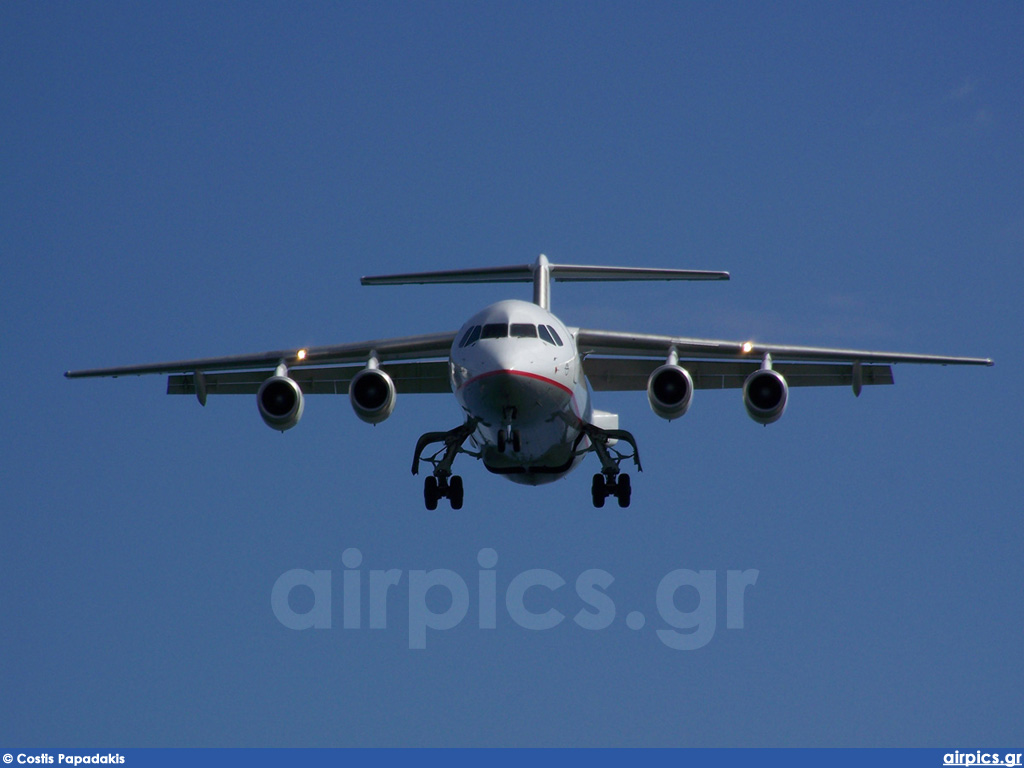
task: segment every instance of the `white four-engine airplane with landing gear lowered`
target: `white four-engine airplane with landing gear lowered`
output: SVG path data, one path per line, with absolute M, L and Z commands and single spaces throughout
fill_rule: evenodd
M 723 281 L 729 273 L 693 269 L 535 263 L 365 276 L 365 286 L 439 283 L 531 283 L 532 301 L 484 307 L 457 332 L 374 339 L 338 346 L 285 349 L 228 357 L 69 371 L 70 379 L 169 374 L 168 394 L 255 394 L 263 421 L 282 432 L 302 418 L 304 395 L 348 394 L 355 415 L 379 424 L 397 395 L 452 392 L 465 420 L 417 440 L 413 474 L 430 467 L 423 486 L 429 510 L 447 499 L 461 509 L 464 484 L 452 471 L 457 456 L 483 462 L 509 480 L 539 485 L 564 477 L 588 454 L 595 507 L 614 497 L 630 505 L 632 485 L 621 471 L 642 471 L 632 433 L 618 416 L 594 408 L 593 393 L 646 390 L 651 411 L 673 420 L 689 409 L 695 389 L 741 389 L 755 422 L 781 418 L 790 387 L 892 384 L 891 364 L 991 366 L 982 357 L 718 341 L 567 326 L 551 311 L 551 282 Z M 468 447 L 467 447 L 468 443 Z M 628 450 L 623 445 L 627 445 Z M 427 453 L 428 446 L 437 446 Z

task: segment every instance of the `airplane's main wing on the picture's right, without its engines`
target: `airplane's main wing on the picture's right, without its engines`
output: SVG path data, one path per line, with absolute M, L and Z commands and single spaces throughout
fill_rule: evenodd
M 771 355 L 772 368 L 791 386 L 892 384 L 892 370 L 887 364 L 894 362 L 992 365 L 987 357 L 783 346 L 588 329 L 578 330 L 575 340 L 580 353 L 586 355 L 584 370 L 595 390 L 646 389 L 647 377 L 668 359 L 673 349 L 697 389 L 739 388 L 761 367 L 765 355 Z

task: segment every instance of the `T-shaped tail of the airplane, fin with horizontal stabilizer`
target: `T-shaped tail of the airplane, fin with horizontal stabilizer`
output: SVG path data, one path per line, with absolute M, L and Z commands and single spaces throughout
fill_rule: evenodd
M 551 281 L 562 283 L 659 280 L 729 280 L 728 272 L 703 269 L 657 269 L 640 266 L 552 264 L 543 253 L 532 264 L 489 266 L 480 269 L 443 269 L 434 272 L 378 274 L 360 279 L 364 286 L 426 285 L 431 283 L 532 283 L 534 303 L 551 309 Z

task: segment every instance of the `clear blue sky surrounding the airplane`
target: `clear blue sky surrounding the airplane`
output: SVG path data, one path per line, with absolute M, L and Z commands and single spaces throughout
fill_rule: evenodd
M 1019 3 L 4 3 L 0 742 L 1019 741 L 1021 39 Z M 596 463 L 531 488 L 464 460 L 434 513 L 409 463 L 452 398 L 370 427 L 311 397 L 282 436 L 248 397 L 60 375 L 455 330 L 528 288 L 359 275 L 541 252 L 733 275 L 556 285 L 569 325 L 996 366 L 797 390 L 767 428 L 737 392 L 671 424 L 604 395 L 628 511 L 590 506 Z M 386 630 L 342 626 L 349 548 L 403 573 Z M 562 577 L 528 604 L 566 620 L 479 629 L 483 548 L 500 595 Z M 295 568 L 333 571 L 332 629 L 275 618 Z M 410 571 L 441 568 L 470 610 L 411 650 Z M 588 569 L 604 630 L 571 621 Z M 656 634 L 677 569 L 717 579 L 697 650 Z

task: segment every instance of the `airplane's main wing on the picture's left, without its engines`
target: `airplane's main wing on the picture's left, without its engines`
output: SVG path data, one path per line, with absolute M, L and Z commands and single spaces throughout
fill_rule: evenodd
M 371 356 L 375 356 L 391 376 L 399 393 L 449 392 L 446 359 L 455 336 L 452 332 L 374 339 L 338 346 L 68 371 L 65 376 L 80 379 L 172 374 L 167 380 L 168 394 L 198 394 L 197 380 L 200 379 L 201 387 L 209 394 L 255 394 L 267 376 L 284 362 L 289 376 L 305 394 L 346 394 L 351 378 L 366 367 Z

